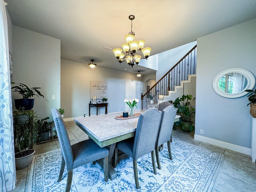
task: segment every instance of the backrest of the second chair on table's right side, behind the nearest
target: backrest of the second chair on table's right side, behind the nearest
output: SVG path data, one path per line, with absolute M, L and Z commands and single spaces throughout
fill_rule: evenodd
M 168 106 L 162 110 L 157 146 L 170 141 L 176 113 L 177 109 L 174 106 Z

